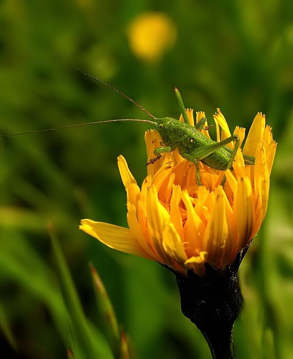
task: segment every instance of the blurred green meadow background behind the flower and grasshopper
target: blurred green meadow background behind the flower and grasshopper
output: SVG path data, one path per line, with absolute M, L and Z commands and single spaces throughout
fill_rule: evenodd
M 146 11 L 168 16 L 177 33 L 172 46 L 152 59 L 137 56 L 128 38 L 129 24 Z M 157 117 L 179 116 L 173 86 L 186 106 L 206 111 L 209 123 L 217 107 L 230 128 L 249 128 L 257 111 L 266 114 L 278 148 L 267 216 L 240 271 L 245 307 L 235 325 L 239 359 L 293 357 L 291 14 L 289 0 L 0 2 L 1 133 L 146 118 L 71 66 L 119 88 Z M 85 217 L 127 226 L 116 157 L 127 158 L 141 184 L 148 128 L 112 123 L 1 141 L 0 318 L 18 353 L 2 333 L 0 356 L 66 357 L 50 221 L 97 327 L 90 261 L 137 358 L 210 357 L 201 333 L 180 312 L 170 272 L 78 230 Z

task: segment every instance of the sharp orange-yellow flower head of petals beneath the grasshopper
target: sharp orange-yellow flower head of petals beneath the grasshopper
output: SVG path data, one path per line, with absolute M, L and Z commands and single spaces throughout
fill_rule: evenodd
M 186 112 L 194 126 L 193 110 Z M 204 115 L 197 112 L 196 121 Z M 218 142 L 231 135 L 220 109 L 214 121 Z M 203 132 L 209 136 L 208 131 Z M 242 143 L 245 129 L 236 127 L 234 133 Z M 157 131 L 150 130 L 145 141 L 149 160 L 162 139 Z M 220 185 L 224 172 L 201 162 L 203 186 L 198 186 L 194 165 L 176 149 L 147 167 L 148 175 L 140 189 L 125 158 L 119 156 L 129 229 L 91 220 L 82 220 L 80 228 L 111 248 L 158 261 L 179 272 L 192 268 L 203 275 L 205 263 L 225 268 L 257 234 L 264 220 L 276 147 L 271 128 L 265 127 L 265 116 L 258 113 L 243 148 L 243 153 L 256 157 L 255 165 L 245 166 L 239 149 L 233 169 L 226 171 L 224 188 Z

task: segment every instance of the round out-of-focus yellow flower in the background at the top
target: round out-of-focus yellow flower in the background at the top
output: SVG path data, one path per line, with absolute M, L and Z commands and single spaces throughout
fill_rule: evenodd
M 168 15 L 145 12 L 135 17 L 128 28 L 132 52 L 147 61 L 159 59 L 176 38 L 176 29 Z

